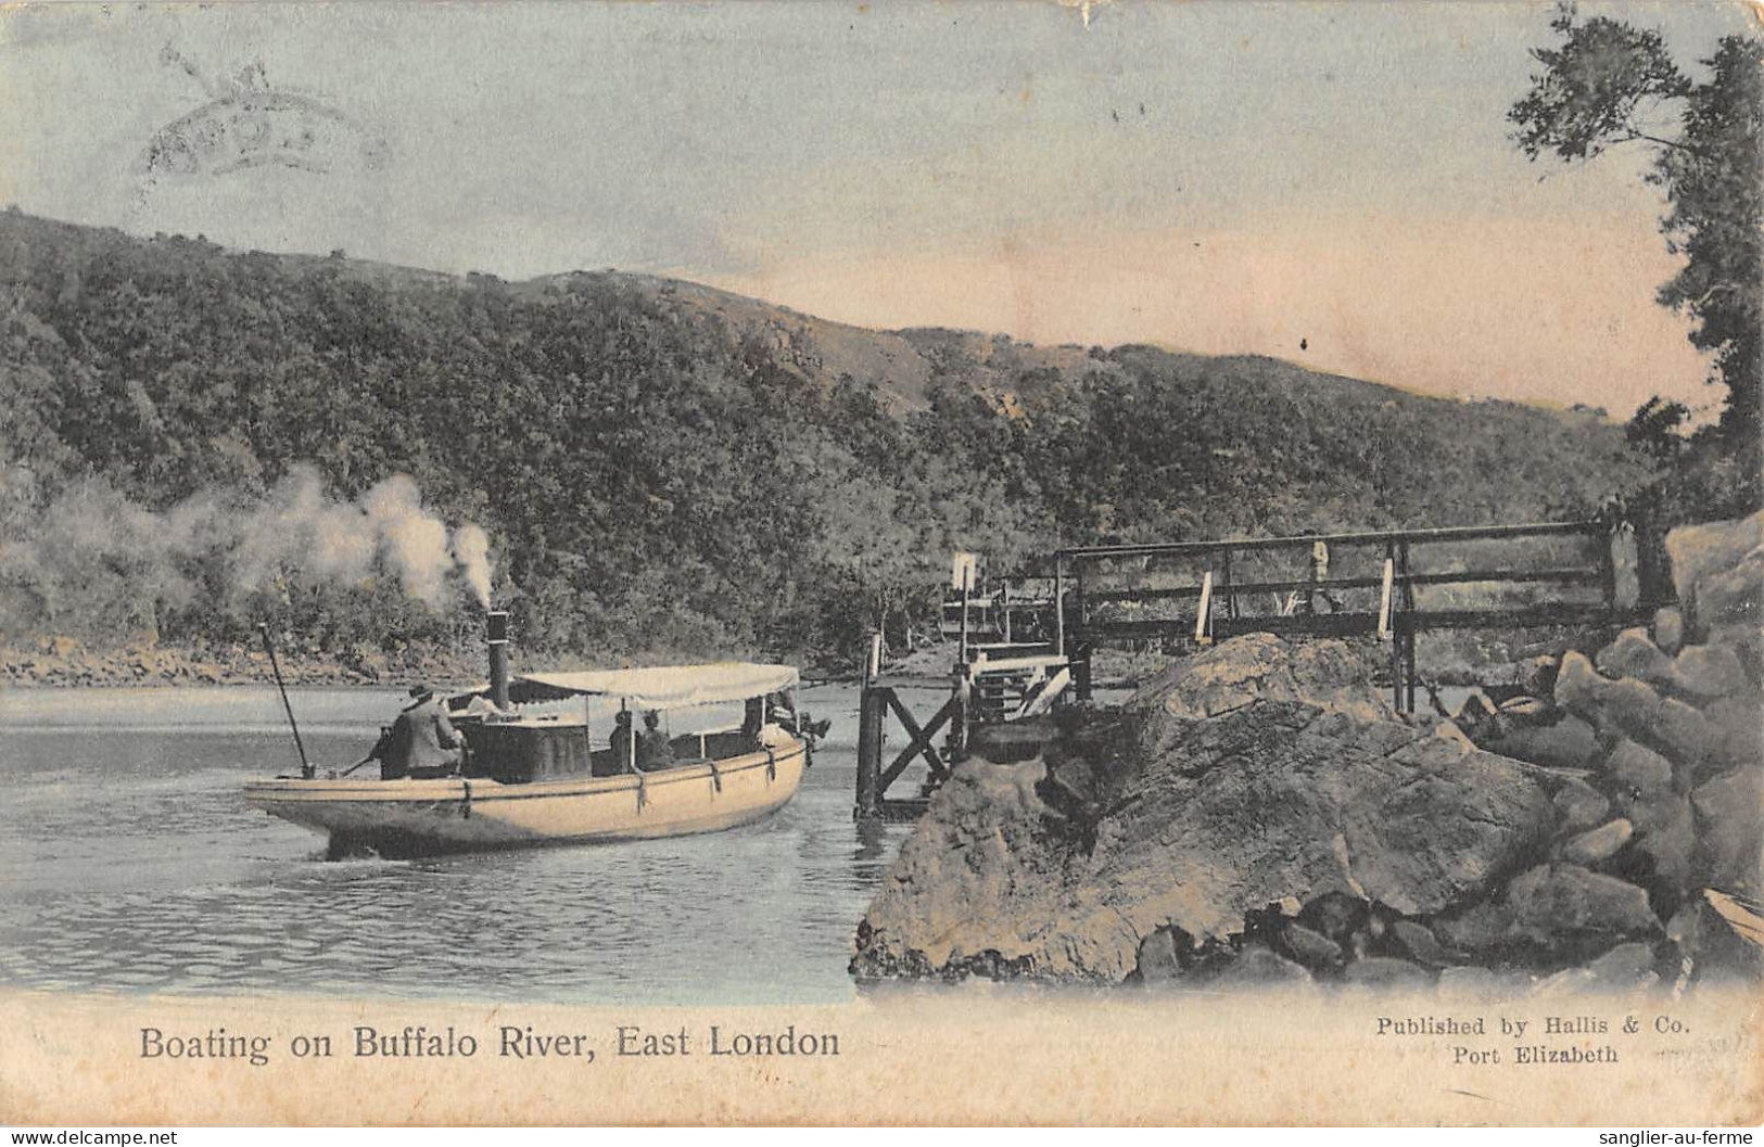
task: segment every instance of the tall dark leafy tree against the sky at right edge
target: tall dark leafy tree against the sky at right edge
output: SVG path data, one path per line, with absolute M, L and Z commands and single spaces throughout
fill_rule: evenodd
M 1646 178 L 1669 203 L 1660 231 L 1685 256 L 1656 300 L 1690 316 L 1690 342 L 1715 358 L 1709 381 L 1727 386 L 1718 424 L 1686 452 L 1685 464 L 1704 475 L 1695 510 L 1753 510 L 1764 501 L 1764 42 L 1722 37 L 1699 81 L 1678 67 L 1660 32 L 1605 16 L 1582 21 L 1572 4 L 1558 7 L 1551 28 L 1561 44 L 1533 49 L 1542 71 L 1508 111 L 1514 138 L 1533 161 L 1586 161 L 1621 145 L 1653 150 Z M 1660 409 L 1649 402 L 1637 418 L 1656 420 Z

